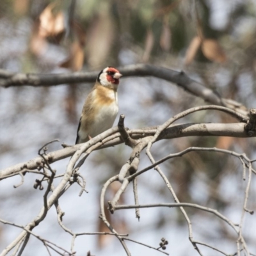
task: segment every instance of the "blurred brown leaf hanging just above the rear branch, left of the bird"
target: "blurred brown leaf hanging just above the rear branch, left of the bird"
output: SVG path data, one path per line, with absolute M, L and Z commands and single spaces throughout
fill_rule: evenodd
M 79 71 L 84 63 L 84 49 L 78 40 L 74 41 L 70 47 L 70 55 L 67 60 L 60 63 L 62 68 L 70 68 L 72 71 Z

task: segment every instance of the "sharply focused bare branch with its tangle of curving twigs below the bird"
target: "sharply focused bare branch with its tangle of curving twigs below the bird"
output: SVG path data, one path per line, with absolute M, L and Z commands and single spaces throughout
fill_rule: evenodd
M 234 116 L 241 122 L 247 122 L 245 123 L 235 123 L 235 124 L 179 124 L 179 125 L 173 125 L 173 122 L 176 120 L 179 120 L 180 118 L 189 115 L 191 113 L 194 113 L 195 111 L 201 111 L 201 110 L 206 110 L 206 109 L 216 109 L 219 111 L 224 111 L 228 113 L 228 115 Z M 162 159 L 156 161 L 154 157 L 152 156 L 150 152 L 150 148 L 153 143 L 155 143 L 157 140 L 163 140 L 163 139 L 170 139 L 170 138 L 180 138 L 182 136 L 234 136 L 234 137 L 247 137 L 249 138 L 251 135 L 254 136 L 253 134 L 250 134 L 248 131 L 252 131 L 254 128 L 251 127 L 250 129 L 245 129 L 245 127 L 248 128 L 248 124 L 252 124 L 252 120 L 249 118 L 246 118 L 245 116 L 236 113 L 236 111 L 233 111 L 231 109 L 227 109 L 224 107 L 220 106 L 201 106 L 201 107 L 196 107 L 196 108 L 191 108 L 186 111 L 183 111 L 182 113 L 179 113 L 178 115 L 173 116 L 173 118 L 170 118 L 168 121 L 164 122 L 163 125 L 159 125 L 157 127 L 148 127 L 144 129 L 135 129 L 135 130 L 127 130 L 124 127 L 124 116 L 120 116 L 120 124 L 119 127 L 113 127 L 112 129 L 109 129 L 106 132 L 103 132 L 99 136 L 96 136 L 92 140 L 82 143 L 80 145 L 75 145 L 73 147 L 66 147 L 61 150 L 58 150 L 56 152 L 50 152 L 47 153 L 47 148 L 44 146 L 41 148 L 41 150 L 44 150 L 44 152 L 41 152 L 39 150 L 40 157 L 36 157 L 36 159 L 32 159 L 31 161 L 28 161 L 28 163 L 23 163 L 23 164 L 17 164 L 16 166 L 13 166 L 13 168 L 7 168 L 6 170 L 3 170 L 0 172 L 0 179 L 5 179 L 6 177 L 11 177 L 13 175 L 19 175 L 20 173 L 23 175 L 24 173 L 29 173 L 29 172 L 35 172 L 35 173 L 40 173 L 40 175 L 44 175 L 44 178 L 42 180 L 39 180 L 41 183 L 43 180 L 47 180 L 48 186 L 44 194 L 44 206 L 42 207 L 41 211 L 38 213 L 36 218 L 32 220 L 30 223 L 24 227 L 24 231 L 20 233 L 19 236 L 16 237 L 16 239 L 9 244 L 3 251 L 1 255 L 6 255 L 6 253 L 10 252 L 13 247 L 15 247 L 15 251 L 19 250 L 21 244 L 22 248 L 20 249 L 19 253 L 22 253 L 24 248 L 26 247 L 26 243 L 29 238 L 29 234 L 31 230 L 33 230 L 36 225 L 38 225 L 41 221 L 44 220 L 47 211 L 51 208 L 51 206 L 54 204 L 56 206 L 57 212 L 58 212 L 58 222 L 60 226 L 68 232 L 72 236 L 72 241 L 71 241 L 71 253 L 74 254 L 74 243 L 76 240 L 77 236 L 82 236 L 85 234 L 92 234 L 92 233 L 79 233 L 76 234 L 72 232 L 69 228 L 65 227 L 62 223 L 62 216 L 63 212 L 60 209 L 60 205 L 58 205 L 58 199 L 60 198 L 65 191 L 67 191 L 74 182 L 77 182 L 82 190 L 84 191 L 85 188 L 85 180 L 83 176 L 81 176 L 78 172 L 79 167 L 84 163 L 84 159 L 86 159 L 86 156 L 88 156 L 93 150 L 97 150 L 99 148 L 104 148 L 104 147 L 110 147 L 111 145 L 117 145 L 118 143 L 122 143 L 122 141 L 126 141 L 127 145 L 132 147 L 132 152 L 131 155 L 127 161 L 127 163 L 124 164 L 122 167 L 121 172 L 119 175 L 116 175 L 115 177 L 112 177 L 109 179 L 103 186 L 102 192 L 100 195 L 100 218 L 102 221 L 104 221 L 105 225 L 109 228 L 111 232 L 108 234 L 111 234 L 113 236 L 116 236 L 122 246 L 124 247 L 125 252 L 127 255 L 131 255 L 129 252 L 129 249 L 127 248 L 127 245 L 125 244 L 124 237 L 121 234 L 118 234 L 116 230 L 111 226 L 109 221 L 106 219 L 106 214 L 105 214 L 105 209 L 104 209 L 104 198 L 106 194 L 106 189 L 108 189 L 108 186 L 111 184 L 111 182 L 115 180 L 120 180 L 122 182 L 122 186 L 118 191 L 116 192 L 115 196 L 113 196 L 113 200 L 109 203 L 109 211 L 114 212 L 116 209 L 125 209 L 123 205 L 118 206 L 117 202 L 120 198 L 120 195 L 124 193 L 124 191 L 127 189 L 129 186 L 129 182 L 133 182 L 134 186 L 134 200 L 135 200 L 135 205 L 132 205 L 136 209 L 136 217 L 140 217 L 140 212 L 139 209 L 141 205 L 138 203 L 138 191 L 137 191 L 137 182 L 136 182 L 136 177 L 138 175 L 141 175 L 144 172 L 147 172 L 147 170 L 150 170 L 152 168 L 155 168 L 159 175 L 161 175 L 162 179 L 164 180 L 164 183 L 166 184 L 166 187 L 170 190 L 172 193 L 172 196 L 176 202 L 174 204 L 175 206 L 170 206 L 168 205 L 161 205 L 157 204 L 157 206 L 166 206 L 166 207 L 180 207 L 180 210 L 182 211 L 182 214 L 184 215 L 184 218 L 186 219 L 188 223 L 188 230 L 189 230 L 189 240 L 193 244 L 194 248 L 197 250 L 197 252 L 202 255 L 198 248 L 198 244 L 208 246 L 211 248 L 211 245 L 209 244 L 204 244 L 201 242 L 197 242 L 193 239 L 193 232 L 192 232 L 192 225 L 191 221 L 189 220 L 188 214 L 184 210 L 184 206 L 189 206 L 189 204 L 186 203 L 181 203 L 179 202 L 179 199 L 177 198 L 177 195 L 175 194 L 174 189 L 172 188 L 172 184 L 170 184 L 169 180 L 166 178 L 164 173 L 161 171 L 161 168 L 159 167 L 159 164 L 163 163 L 167 159 L 172 159 L 173 157 L 180 157 L 183 156 L 184 154 L 187 154 L 188 152 L 192 151 L 207 151 L 207 152 L 221 152 L 224 154 L 230 154 L 230 156 L 235 156 L 237 157 L 241 163 L 243 164 L 243 178 L 246 178 L 246 170 L 249 170 L 249 175 L 248 175 L 248 182 L 246 186 L 246 191 L 245 191 L 245 196 L 244 196 L 244 207 L 243 207 L 243 214 L 241 216 L 241 221 L 239 228 L 236 228 L 236 225 L 232 223 L 232 221 L 228 220 L 225 218 L 225 216 L 222 216 L 220 212 L 214 210 L 214 209 L 207 209 L 206 207 L 201 207 L 200 205 L 197 208 L 201 209 L 203 211 L 209 211 L 221 218 L 221 220 L 224 221 L 229 221 L 228 224 L 236 231 L 238 234 L 237 238 L 237 254 L 240 252 L 240 250 L 244 250 L 244 252 L 249 253 L 248 248 L 246 246 L 246 242 L 244 241 L 244 237 L 242 236 L 242 227 L 243 227 L 243 218 L 244 214 L 246 211 L 252 213 L 252 211 L 249 211 L 247 209 L 247 200 L 249 197 L 249 189 L 250 189 L 250 183 L 252 179 L 252 172 L 255 173 L 255 170 L 252 168 L 252 161 L 248 159 L 248 157 L 245 154 L 238 154 L 236 152 L 232 152 L 230 150 L 223 150 L 220 148 L 199 148 L 199 147 L 189 147 L 186 148 L 186 150 L 182 150 L 181 152 L 177 152 L 175 154 L 169 154 L 168 156 L 163 157 Z M 251 118 L 251 117 L 250 117 Z M 120 132 L 118 132 L 120 131 Z M 121 138 L 122 137 L 122 138 Z M 143 170 L 138 171 L 138 164 L 140 163 L 140 154 L 142 150 L 147 147 L 147 155 L 151 161 L 152 164 L 144 168 Z M 64 174 L 58 175 L 58 177 L 61 177 L 61 180 L 54 189 L 52 186 L 52 181 L 54 180 L 55 177 L 55 170 L 52 170 L 51 168 L 51 163 L 54 161 L 58 161 L 60 159 L 63 159 L 65 157 L 71 156 L 71 159 L 67 165 L 67 170 Z M 85 157 L 83 157 L 83 155 Z M 81 159 L 79 161 L 79 159 Z M 77 164 L 77 161 L 79 163 Z M 76 165 L 77 164 L 77 165 Z M 76 167 L 74 167 L 76 166 Z M 33 168 L 36 169 L 38 168 L 43 170 L 43 173 L 33 171 Z M 17 169 L 15 169 L 17 168 Z M 31 170 L 32 169 L 32 170 Z M 49 171 L 49 172 L 48 172 Z M 50 173 L 51 172 L 51 173 Z M 129 172 L 129 176 L 127 176 L 127 173 Z M 5 175 L 4 175 L 5 174 Z M 51 195 L 49 196 L 50 191 L 52 191 Z M 49 198 L 48 198 L 49 196 Z M 183 205 L 182 205 L 183 204 Z M 194 205 L 194 204 L 191 204 Z M 191 206 L 190 205 L 190 206 Z M 157 207 L 156 205 L 152 207 Z M 118 208 L 119 207 L 119 208 Z M 123 208 L 122 208 L 123 207 Z M 126 206 L 125 206 L 126 207 Z M 195 205 L 194 205 L 195 207 Z M 196 208 L 195 207 L 195 208 Z M 29 230 L 30 232 L 28 232 Z M 95 232 L 93 234 L 99 234 L 99 232 Z M 102 233 L 100 233 L 102 234 Z M 107 233 L 104 233 L 107 234 Z M 50 242 L 49 242 L 50 243 Z M 47 250 L 51 248 L 57 253 L 58 250 L 54 248 L 49 243 L 44 243 L 45 247 Z M 242 249 L 240 249 L 240 246 L 242 246 Z M 158 248 L 159 249 L 159 248 Z M 156 250 L 158 250 L 156 249 Z M 218 251 L 218 249 L 217 249 Z M 218 251 L 219 252 L 219 251 Z M 49 252 L 50 253 L 50 252 Z

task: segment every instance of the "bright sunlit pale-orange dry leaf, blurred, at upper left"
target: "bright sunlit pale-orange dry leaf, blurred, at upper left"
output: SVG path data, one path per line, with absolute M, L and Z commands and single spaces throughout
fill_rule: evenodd
M 38 35 L 43 38 L 56 38 L 56 41 L 60 42 L 65 31 L 65 20 L 63 12 L 52 12 L 54 6 L 54 3 L 49 4 L 40 14 Z

